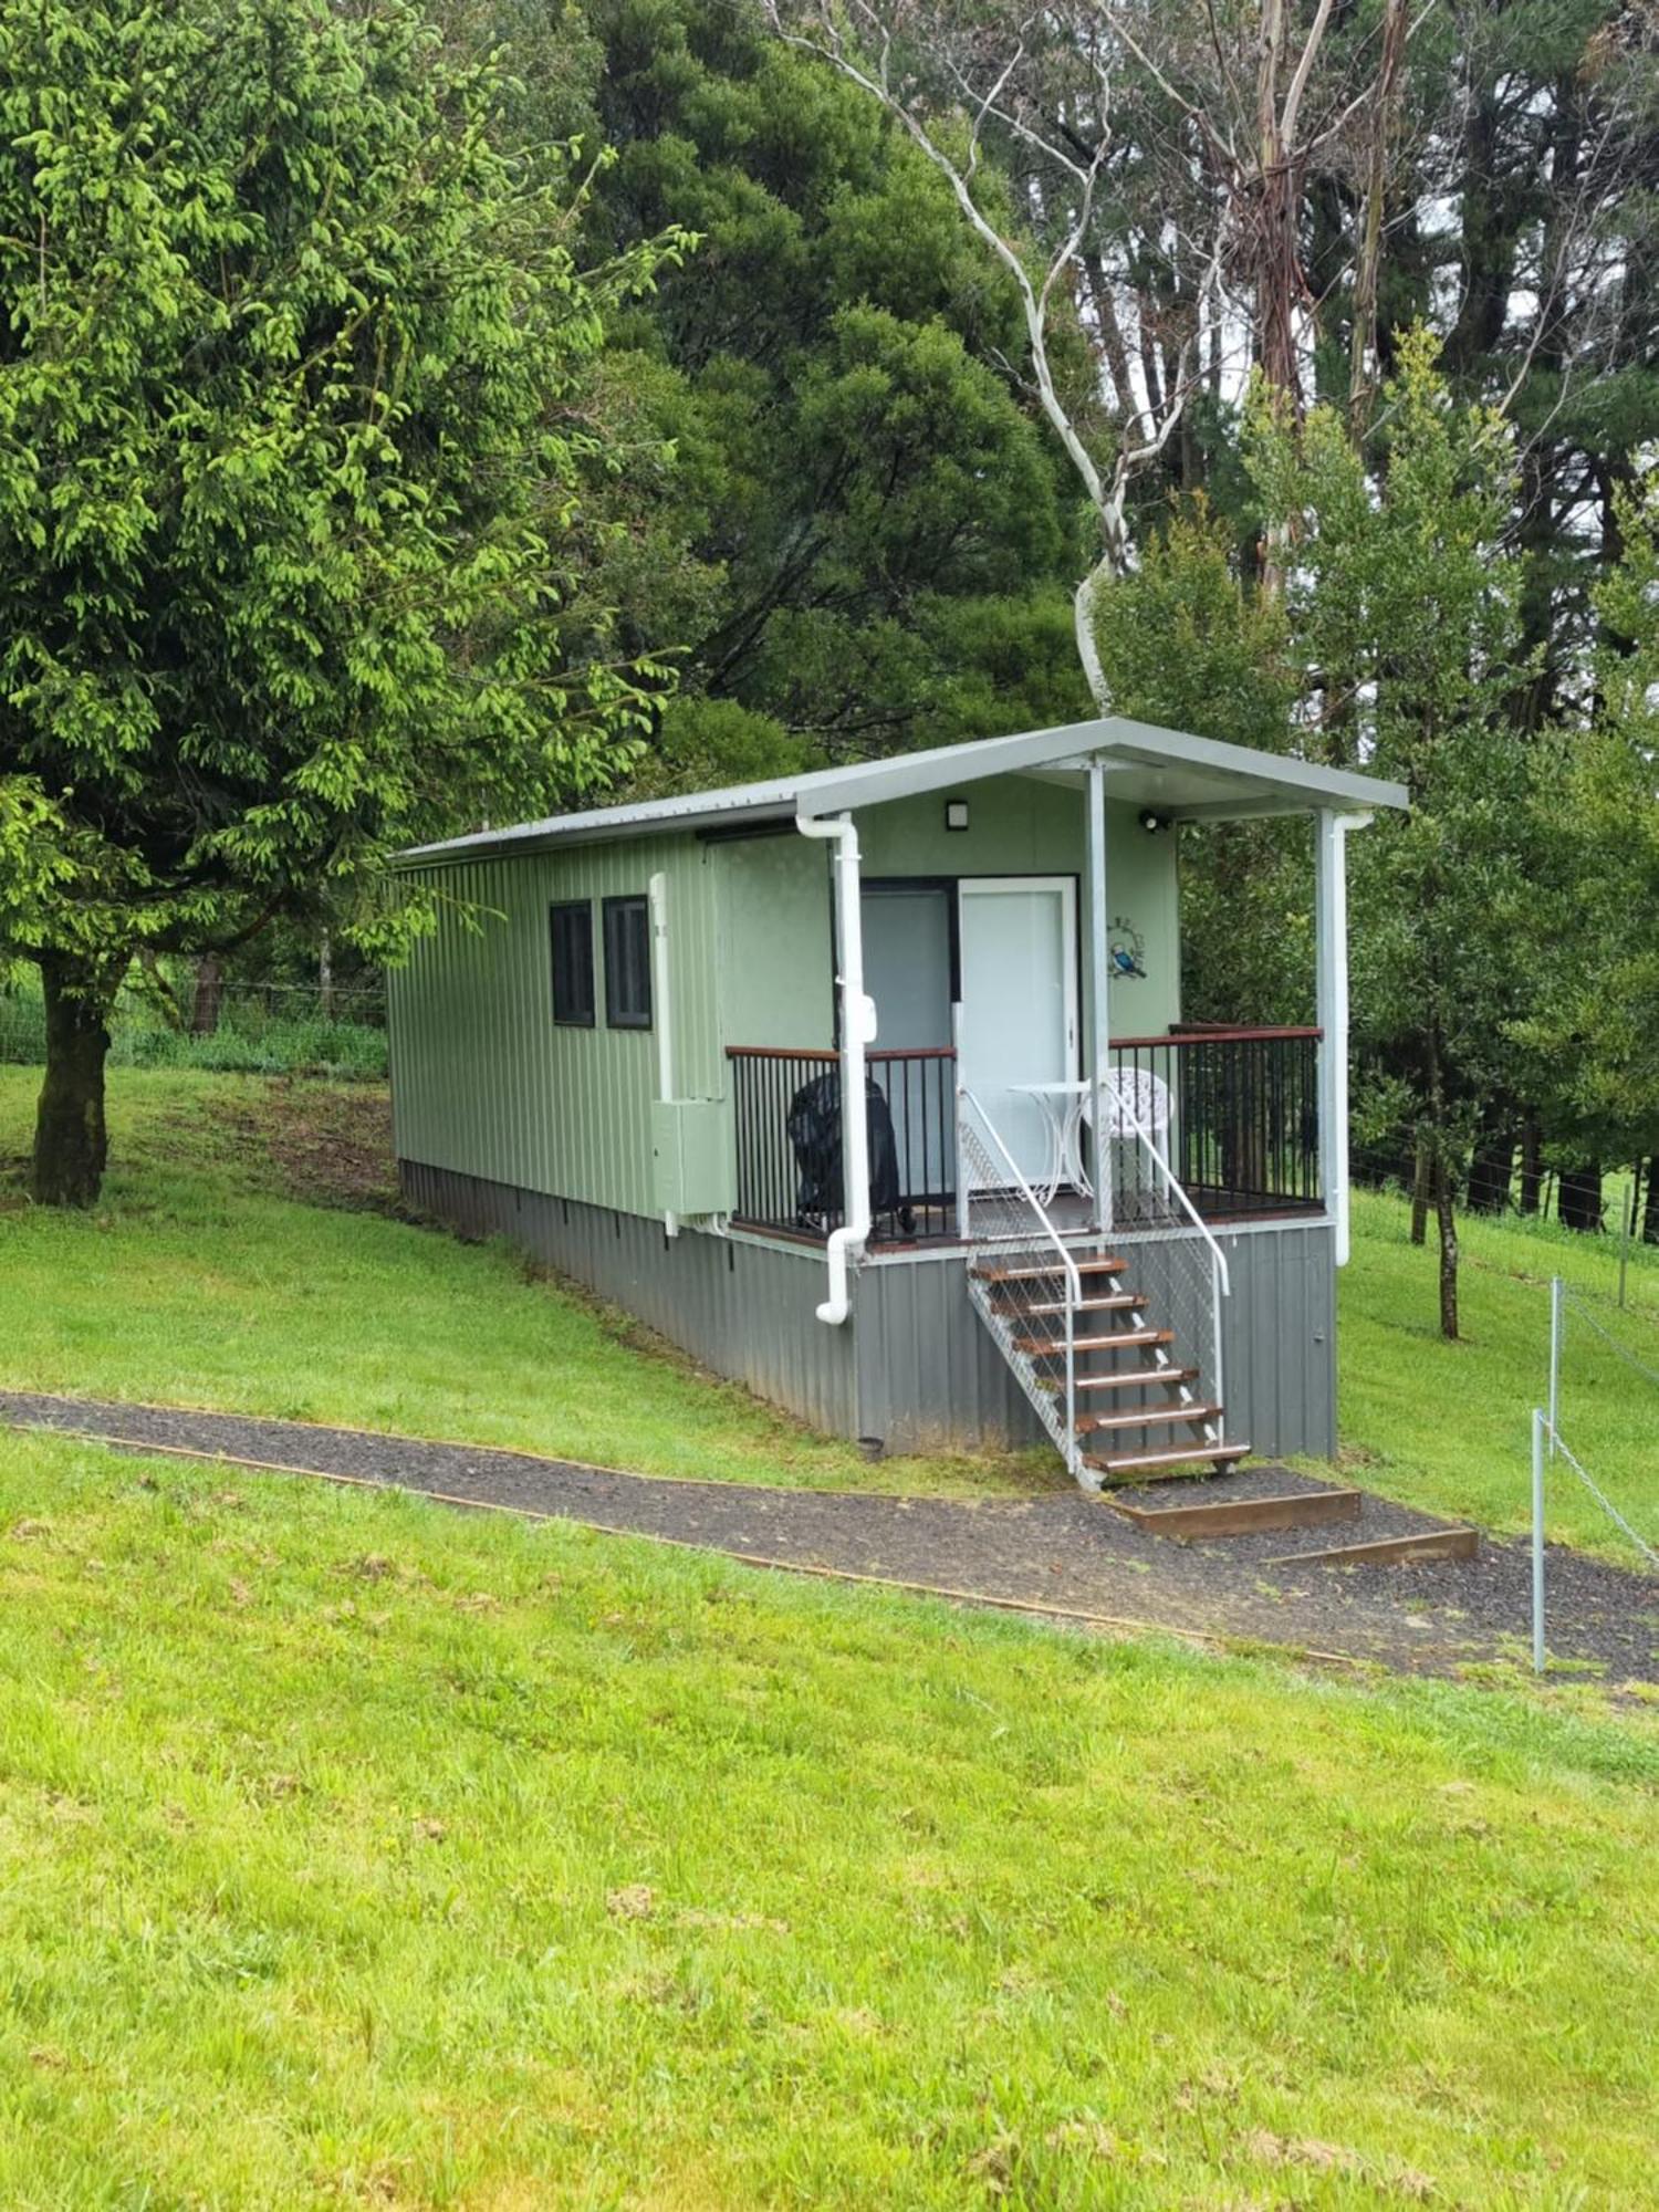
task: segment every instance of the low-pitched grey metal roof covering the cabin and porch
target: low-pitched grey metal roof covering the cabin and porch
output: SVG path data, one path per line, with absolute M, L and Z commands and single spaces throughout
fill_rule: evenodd
M 1305 814 L 1316 807 L 1405 807 L 1402 783 L 1360 776 L 1345 768 L 1316 768 L 1287 754 L 1223 745 L 1186 730 L 1159 730 L 1124 714 L 1073 721 L 1057 730 L 1026 730 L 1020 737 L 987 737 L 967 745 L 936 745 L 931 752 L 900 752 L 854 768 L 821 768 L 801 776 L 734 783 L 717 792 L 686 792 L 677 799 L 646 799 L 633 805 L 588 807 L 582 814 L 551 814 L 546 821 L 509 830 L 478 830 L 471 836 L 416 845 L 398 854 L 398 865 L 425 860 L 471 860 L 498 852 L 542 852 L 549 845 L 604 843 L 672 830 L 743 830 L 825 816 L 949 792 L 987 776 L 1035 774 L 1084 783 L 1091 759 L 1106 770 L 1108 799 L 1155 807 L 1172 821 L 1237 821 L 1250 814 Z

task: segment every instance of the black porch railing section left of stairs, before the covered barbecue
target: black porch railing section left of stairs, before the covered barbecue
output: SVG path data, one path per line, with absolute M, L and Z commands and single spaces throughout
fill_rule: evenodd
M 845 1219 L 841 1053 L 730 1044 L 739 1228 L 821 1241 Z M 956 1053 L 869 1051 L 872 1243 L 956 1234 Z

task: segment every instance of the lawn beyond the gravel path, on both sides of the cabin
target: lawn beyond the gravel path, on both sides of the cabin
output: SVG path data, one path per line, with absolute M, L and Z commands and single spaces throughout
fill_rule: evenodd
M 35 1086 L 38 1071 L 0 1068 L 0 1159 L 27 1144 Z M 385 1212 L 301 1203 L 288 1186 L 372 1197 L 369 1186 L 385 1183 L 380 1108 L 363 1086 L 117 1071 L 111 1099 L 115 1166 L 97 1212 L 42 1214 L 20 1194 L 0 1212 L 0 1385 L 343 1420 L 739 1482 L 973 1493 L 1062 1480 L 1046 1453 L 865 1467 L 745 1391 L 641 1354 L 624 1316 L 538 1281 L 504 1248 L 462 1245 Z M 1619 1314 L 1610 1239 L 1467 1221 L 1464 1252 L 1467 1334 L 1447 1345 L 1436 1334 L 1433 1248 L 1409 1245 L 1405 1201 L 1356 1194 L 1340 1285 L 1343 1442 L 1369 1486 L 1520 1531 L 1548 1276 L 1568 1274 L 1604 1325 L 1659 1369 L 1659 1254 L 1635 1254 Z M 1659 1537 L 1659 1387 L 1621 1369 L 1577 1321 L 1562 1427 L 1635 1524 Z M 1635 1564 L 1566 1471 L 1551 1484 L 1551 1533 Z

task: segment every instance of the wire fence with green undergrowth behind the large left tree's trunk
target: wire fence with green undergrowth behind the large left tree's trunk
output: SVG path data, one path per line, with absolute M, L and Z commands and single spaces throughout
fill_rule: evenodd
M 327 1075 L 383 1082 L 385 987 L 334 989 L 223 982 L 208 998 L 166 984 L 122 991 L 111 1015 L 111 1066 L 248 1075 Z M 35 978 L 0 987 L 0 1062 L 44 1066 L 46 1009 Z

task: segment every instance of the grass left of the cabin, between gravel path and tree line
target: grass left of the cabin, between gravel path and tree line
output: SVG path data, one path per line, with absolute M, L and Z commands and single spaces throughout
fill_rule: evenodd
M 22 1168 L 35 1068 L 0 1068 Z M 562 1292 L 504 1245 L 392 1219 L 383 1097 L 199 1073 L 111 1075 L 86 1214 L 0 1214 L 0 1385 L 520 1444 L 646 1473 L 975 1493 L 1035 1458 L 867 1467 Z M 356 1210 L 303 1203 L 334 1190 Z M 369 1210 L 363 1210 L 369 1208 Z

